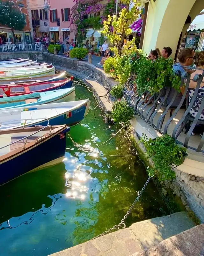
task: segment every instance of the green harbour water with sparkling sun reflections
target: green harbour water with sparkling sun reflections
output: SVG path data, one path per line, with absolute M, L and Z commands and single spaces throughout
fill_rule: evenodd
M 82 99 L 93 98 L 81 86 L 76 94 Z M 91 107 L 96 105 L 91 100 Z M 90 110 L 81 124 L 71 128 L 70 136 L 93 148 L 108 140 L 117 130 L 100 114 L 98 107 L 95 115 Z M 120 132 L 100 150 L 109 155 L 134 153 Z M 80 171 L 76 171 L 79 164 Z M 69 188 L 65 173 L 71 177 L 74 189 Z M 27 173 L 0 187 L 0 255 L 45 256 L 91 239 L 120 223 L 147 178 L 138 157 L 87 154 L 67 138 L 62 163 Z M 171 208 L 179 211 L 176 204 Z M 150 181 L 126 225 L 169 213 Z

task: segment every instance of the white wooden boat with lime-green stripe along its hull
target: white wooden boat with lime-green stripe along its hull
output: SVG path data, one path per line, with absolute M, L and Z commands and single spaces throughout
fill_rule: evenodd
M 29 78 L 29 77 L 38 77 L 46 75 L 54 75 L 55 67 L 53 68 L 42 68 L 41 70 L 28 70 L 28 71 L 6 71 L 0 72 L 0 80 L 11 80 L 12 78 Z

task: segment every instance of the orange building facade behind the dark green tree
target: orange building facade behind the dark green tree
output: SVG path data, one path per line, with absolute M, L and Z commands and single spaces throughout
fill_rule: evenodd
M 28 0 L 18 0 L 18 5 L 19 7 L 22 8 L 22 12 L 25 13 L 25 21 L 26 25 L 22 31 L 19 30 L 14 30 L 14 36 L 16 39 L 16 43 L 21 43 L 21 42 L 32 42 L 32 26 L 31 26 L 31 17 L 29 15 L 29 2 Z M 13 42 L 13 34 L 11 31 L 11 28 L 8 26 L 4 26 L 0 24 L 0 37 L 1 37 L 1 42 Z

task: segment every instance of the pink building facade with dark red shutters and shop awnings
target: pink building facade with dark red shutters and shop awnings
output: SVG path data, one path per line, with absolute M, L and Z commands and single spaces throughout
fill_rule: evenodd
M 57 42 L 63 42 L 67 36 L 69 40 L 74 39 L 75 25 L 70 22 L 71 8 L 76 2 L 50 0 L 49 31 L 50 38 Z

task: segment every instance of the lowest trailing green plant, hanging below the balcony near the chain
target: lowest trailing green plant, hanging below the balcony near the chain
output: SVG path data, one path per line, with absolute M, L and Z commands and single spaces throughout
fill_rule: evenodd
M 143 134 L 140 142 L 147 150 L 148 158 L 154 163 L 154 167 L 148 168 L 147 173 L 150 176 L 157 176 L 160 181 L 174 179 L 176 174 L 172 171 L 170 164 L 179 165 L 186 148 L 179 147 L 168 134 L 157 137 L 154 140 L 148 139 Z

